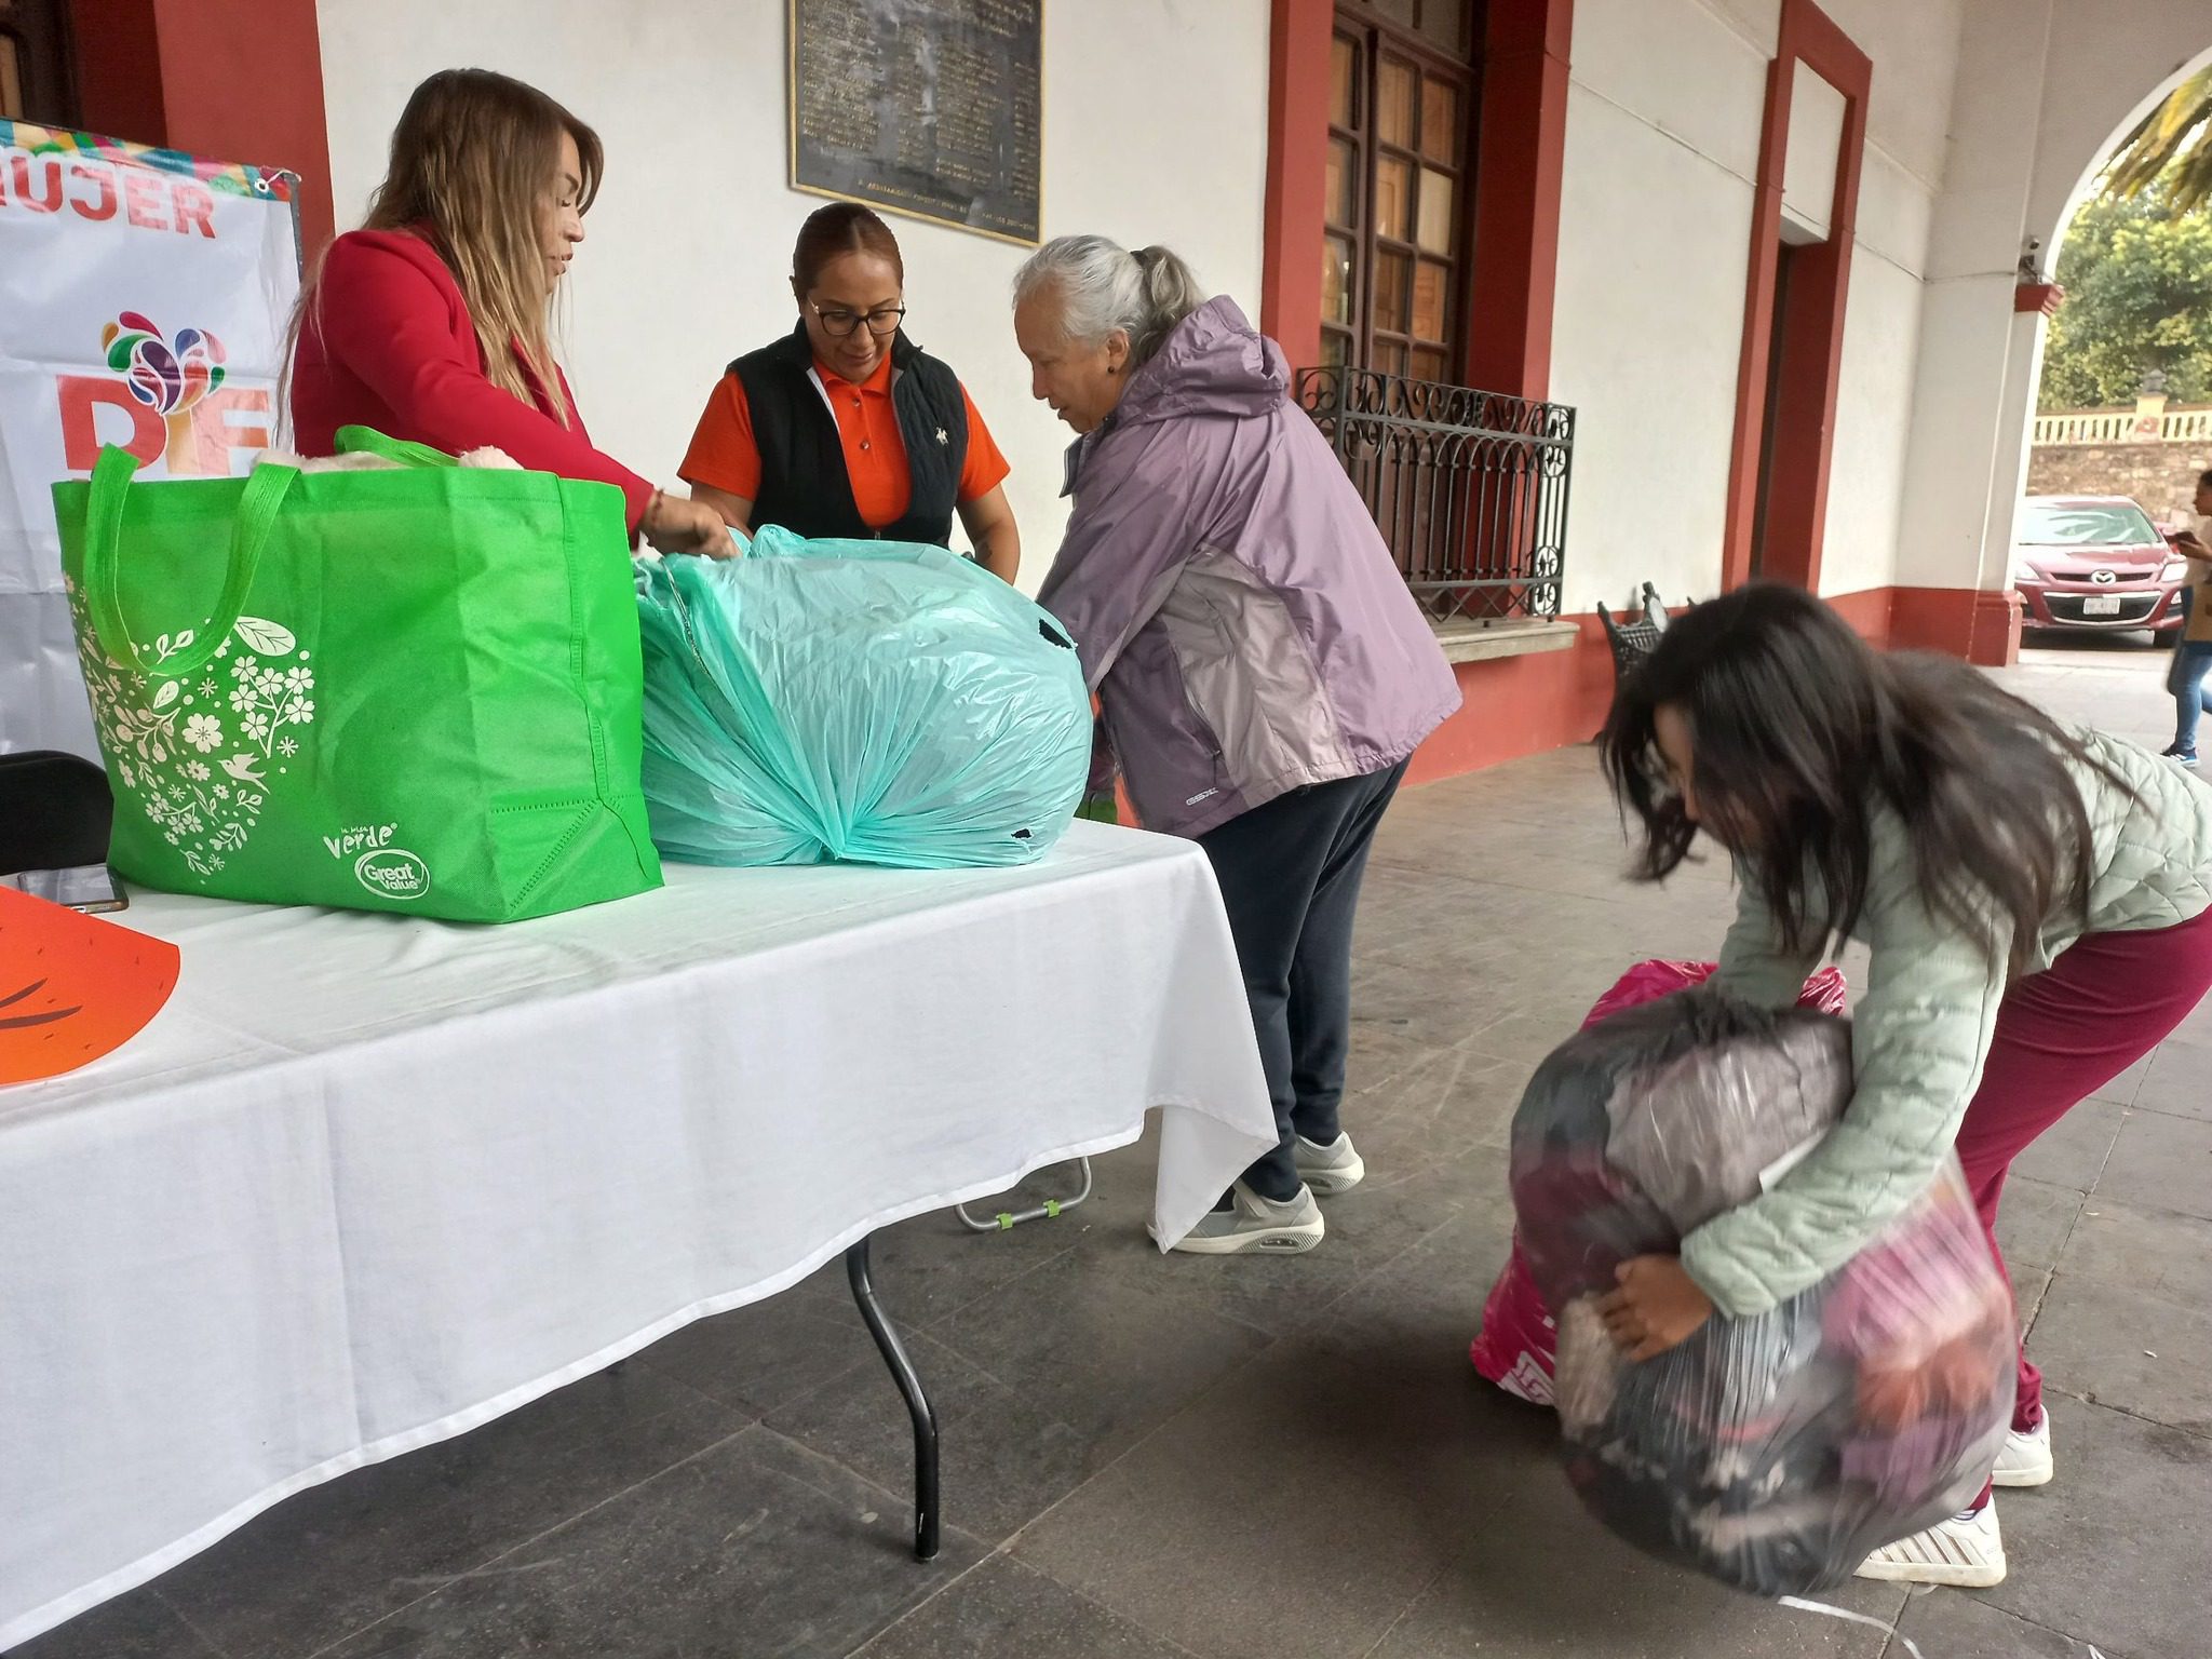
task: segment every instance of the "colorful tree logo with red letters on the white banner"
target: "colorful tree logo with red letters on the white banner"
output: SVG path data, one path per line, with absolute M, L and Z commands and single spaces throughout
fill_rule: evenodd
M 166 460 L 173 478 L 230 476 L 230 451 L 268 449 L 270 394 L 223 387 L 223 343 L 197 327 L 175 338 L 142 312 L 124 312 L 100 330 L 102 374 L 55 376 L 62 403 L 62 449 L 71 471 L 91 471 L 102 445 L 122 445 L 142 467 Z M 115 418 L 119 409 L 128 427 Z M 259 425 L 232 425 L 232 416 Z

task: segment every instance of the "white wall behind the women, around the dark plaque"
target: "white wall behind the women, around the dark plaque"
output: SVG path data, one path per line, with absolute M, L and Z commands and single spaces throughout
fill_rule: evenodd
M 792 325 L 785 0 L 321 0 L 338 228 L 383 177 L 407 93 L 436 69 L 520 75 L 606 142 L 564 301 L 593 438 L 675 484 L 721 367 Z M 1267 0 L 1053 0 L 1044 29 L 1044 234 L 1161 241 L 1259 310 Z M 1013 465 L 1024 582 L 1066 513 L 1068 431 L 1031 403 L 1009 281 L 1024 250 L 889 217 L 914 338 L 967 383 Z

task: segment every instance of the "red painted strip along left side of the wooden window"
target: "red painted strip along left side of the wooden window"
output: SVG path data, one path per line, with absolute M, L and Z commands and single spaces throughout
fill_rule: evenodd
M 1267 31 L 1267 197 L 1259 327 L 1292 369 L 1321 361 L 1334 0 L 1274 0 Z

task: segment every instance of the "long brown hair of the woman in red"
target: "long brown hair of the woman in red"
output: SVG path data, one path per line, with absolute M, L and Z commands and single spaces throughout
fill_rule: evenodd
M 363 230 L 427 228 L 469 305 L 491 383 L 529 403 L 529 365 L 553 416 L 566 425 L 568 400 L 549 332 L 553 279 L 544 254 L 546 190 L 560 166 L 562 133 L 575 139 L 577 212 L 584 212 L 606 170 L 599 135 L 511 75 L 440 69 L 414 88 L 400 111 L 392 159 L 369 197 Z M 294 338 L 319 285 L 310 281 L 301 294 Z

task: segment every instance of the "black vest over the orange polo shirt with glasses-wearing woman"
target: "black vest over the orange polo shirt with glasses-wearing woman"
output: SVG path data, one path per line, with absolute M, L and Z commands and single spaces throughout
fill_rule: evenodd
M 752 440 L 761 451 L 761 493 L 752 498 L 752 522 L 781 524 L 807 538 L 883 535 L 951 546 L 960 469 L 967 465 L 967 400 L 953 372 L 902 332 L 891 336 L 891 414 L 898 416 L 898 436 L 907 445 L 914 498 L 896 524 L 869 529 L 852 500 L 836 420 L 807 378 L 812 367 L 814 347 L 807 345 L 805 323 L 730 365 L 730 374 L 745 387 Z

